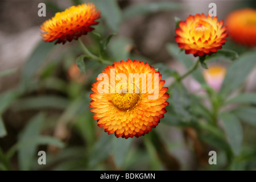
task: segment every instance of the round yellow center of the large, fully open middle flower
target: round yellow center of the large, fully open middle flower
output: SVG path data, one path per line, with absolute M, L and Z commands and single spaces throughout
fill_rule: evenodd
M 123 111 L 128 111 L 138 105 L 139 100 L 141 100 L 141 93 L 135 84 L 130 89 L 128 82 L 126 89 L 122 88 L 122 86 L 119 86 L 118 89 L 116 88 L 116 93 L 112 93 L 111 98 L 115 107 Z

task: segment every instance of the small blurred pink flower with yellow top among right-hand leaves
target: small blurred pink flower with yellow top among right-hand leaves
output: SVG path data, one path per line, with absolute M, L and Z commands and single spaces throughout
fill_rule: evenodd
M 210 87 L 219 91 L 226 76 L 226 68 L 222 65 L 209 66 L 209 69 L 204 69 L 203 76 Z

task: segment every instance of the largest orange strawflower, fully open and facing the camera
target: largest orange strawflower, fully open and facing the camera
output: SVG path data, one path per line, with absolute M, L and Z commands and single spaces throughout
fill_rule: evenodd
M 166 113 L 169 94 L 154 67 L 128 59 L 115 62 L 102 73 L 90 94 L 90 107 L 96 113 L 93 119 L 97 119 L 98 126 L 108 134 L 127 139 L 141 137 L 158 125 Z

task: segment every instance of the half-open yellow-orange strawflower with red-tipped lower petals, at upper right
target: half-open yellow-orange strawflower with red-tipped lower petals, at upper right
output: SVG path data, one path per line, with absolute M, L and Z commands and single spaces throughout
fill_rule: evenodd
M 221 49 L 226 42 L 228 34 L 225 32 L 226 27 L 222 25 L 223 21 L 218 22 L 217 16 L 189 15 L 176 28 L 175 40 L 187 54 L 192 53 L 195 57 L 210 55 Z

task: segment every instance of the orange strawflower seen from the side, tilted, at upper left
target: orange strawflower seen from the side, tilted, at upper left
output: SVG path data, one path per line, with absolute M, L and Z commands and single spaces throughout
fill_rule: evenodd
M 43 40 L 45 42 L 57 40 L 55 44 L 77 40 L 81 35 L 94 30 L 90 26 L 98 24 L 95 21 L 98 18 L 100 12 L 92 3 L 69 7 L 42 24 L 40 29 L 43 31 Z

